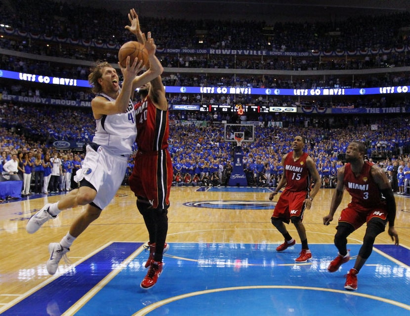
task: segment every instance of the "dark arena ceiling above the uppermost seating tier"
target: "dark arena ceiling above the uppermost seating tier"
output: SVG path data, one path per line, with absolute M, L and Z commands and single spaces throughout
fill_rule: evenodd
M 70 2 L 70 0 L 68 0 Z M 410 9 L 409 0 L 71 0 L 84 5 L 135 8 L 140 15 L 162 18 L 334 21 L 348 16 L 379 15 Z

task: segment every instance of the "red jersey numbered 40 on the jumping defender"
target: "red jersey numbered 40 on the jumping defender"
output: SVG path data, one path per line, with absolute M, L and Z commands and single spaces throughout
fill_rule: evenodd
M 134 106 L 137 125 L 137 145 L 142 152 L 168 148 L 168 111 L 155 107 L 149 96 Z

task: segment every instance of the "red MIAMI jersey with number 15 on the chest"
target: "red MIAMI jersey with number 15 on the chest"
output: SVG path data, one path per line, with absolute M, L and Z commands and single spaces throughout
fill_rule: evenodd
M 296 161 L 292 158 L 293 152 L 287 154 L 284 163 L 284 172 L 286 174 L 285 190 L 289 191 L 306 191 L 310 190 L 311 175 L 306 166 L 308 154 L 303 153 Z

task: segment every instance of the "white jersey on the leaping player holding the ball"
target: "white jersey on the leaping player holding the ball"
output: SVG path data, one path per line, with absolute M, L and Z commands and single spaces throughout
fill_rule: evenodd
M 105 93 L 99 93 L 110 101 L 115 99 Z M 130 155 L 132 144 L 137 136 L 137 126 L 135 124 L 135 111 L 132 100 L 129 100 L 125 113 L 104 115 L 95 120 L 96 129 L 92 140 L 93 143 L 103 146 L 116 155 Z

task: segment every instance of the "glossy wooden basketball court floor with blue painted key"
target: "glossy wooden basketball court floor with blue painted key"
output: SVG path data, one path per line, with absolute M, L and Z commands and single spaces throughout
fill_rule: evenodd
M 83 207 L 63 211 L 29 235 L 27 220 L 61 196 L 2 203 L 0 314 L 317 315 L 328 308 L 334 313 L 327 315 L 382 315 L 392 309 L 395 315 L 409 315 L 410 197 L 395 196 L 400 246 L 391 246 L 387 232 L 379 235 L 358 275 L 358 290 L 349 292 L 343 275 L 353 267 L 352 260 L 333 274 L 326 270 L 337 254 L 335 226 L 349 195 L 345 193 L 335 220 L 324 226 L 333 189 L 321 189 L 304 217 L 313 258 L 296 265 L 300 240 L 293 226 L 288 230 L 296 245 L 275 251 L 283 237 L 270 223 L 277 197 L 270 202 L 269 192 L 172 187 L 170 249 L 162 276 L 148 291 L 139 287 L 148 256 L 142 243 L 148 237 L 128 187 L 120 188 L 100 218 L 75 240 L 68 253 L 72 264 L 62 260 L 55 276 L 45 268 L 47 246 L 60 241 Z M 364 232 L 362 227 L 349 237 L 352 256 L 357 256 Z M 92 281 L 94 276 L 100 278 Z M 74 292 L 80 294 L 71 297 Z

